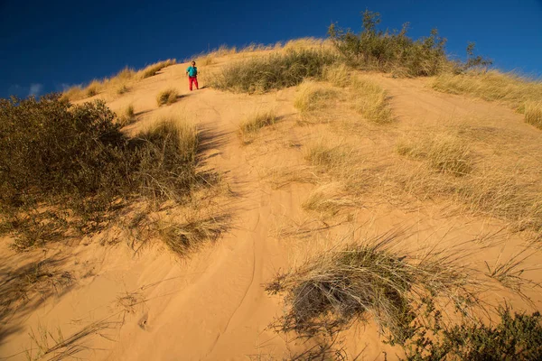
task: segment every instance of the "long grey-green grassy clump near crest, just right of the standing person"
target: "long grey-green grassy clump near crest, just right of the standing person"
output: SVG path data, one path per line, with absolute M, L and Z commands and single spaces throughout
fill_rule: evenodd
M 293 87 L 306 78 L 322 77 L 324 66 L 332 64 L 332 51 L 286 51 L 229 64 L 212 80 L 211 86 L 242 93 L 262 93 Z

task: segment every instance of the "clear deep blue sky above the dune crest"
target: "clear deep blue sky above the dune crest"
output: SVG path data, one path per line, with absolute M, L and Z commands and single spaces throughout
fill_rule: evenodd
M 366 8 L 384 29 L 409 22 L 414 38 L 436 27 L 456 56 L 476 42 L 500 69 L 542 74 L 542 0 L 0 0 L 0 97 L 59 91 L 220 44 L 324 37 L 332 22 L 359 31 Z

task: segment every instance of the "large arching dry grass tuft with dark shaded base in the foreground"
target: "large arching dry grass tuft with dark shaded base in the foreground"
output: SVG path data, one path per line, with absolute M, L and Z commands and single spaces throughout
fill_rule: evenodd
M 267 284 L 267 292 L 285 292 L 288 311 L 275 326 L 304 336 L 333 334 L 370 316 L 388 338 L 404 340 L 419 317 L 416 304 L 435 306 L 438 299 L 467 313 L 478 304 L 486 283 L 459 263 L 462 256 L 435 248 L 407 252 L 389 233 L 322 253 Z

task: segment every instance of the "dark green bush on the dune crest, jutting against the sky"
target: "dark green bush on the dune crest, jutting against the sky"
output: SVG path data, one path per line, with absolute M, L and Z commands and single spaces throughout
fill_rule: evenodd
M 435 29 L 429 37 L 415 41 L 406 35 L 408 23 L 400 32 L 378 31 L 378 23 L 380 15 L 366 10 L 362 32 L 337 29 L 335 24 L 328 32 L 342 57 L 359 69 L 418 77 L 435 75 L 452 65 L 444 52 L 446 40 Z

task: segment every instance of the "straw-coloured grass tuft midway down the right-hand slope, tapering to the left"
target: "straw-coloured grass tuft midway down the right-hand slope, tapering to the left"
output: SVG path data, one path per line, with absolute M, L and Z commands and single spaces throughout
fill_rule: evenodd
M 397 153 L 425 159 L 432 168 L 456 176 L 472 171 L 470 147 L 458 136 L 436 134 L 432 138 L 397 143 Z

